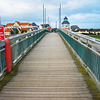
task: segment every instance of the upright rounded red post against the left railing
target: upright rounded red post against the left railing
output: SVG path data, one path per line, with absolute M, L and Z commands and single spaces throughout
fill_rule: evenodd
M 11 59 L 11 46 L 10 41 L 5 39 L 5 59 L 6 59 L 6 72 L 9 73 L 12 70 L 12 59 Z

